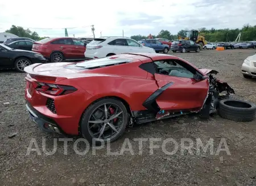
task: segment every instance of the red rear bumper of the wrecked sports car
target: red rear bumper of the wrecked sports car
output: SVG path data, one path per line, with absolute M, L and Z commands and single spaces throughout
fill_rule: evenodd
M 90 94 L 78 88 L 70 94 L 51 96 L 32 89 L 30 83 L 26 85 L 25 99 L 31 119 L 44 131 L 78 135 L 80 118 L 89 105 Z

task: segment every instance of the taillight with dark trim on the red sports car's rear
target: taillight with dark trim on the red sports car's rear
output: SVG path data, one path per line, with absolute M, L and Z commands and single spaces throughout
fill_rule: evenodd
M 37 82 L 38 86 L 36 90 L 39 92 L 49 94 L 52 96 L 60 96 L 64 94 L 69 94 L 75 92 L 77 89 L 73 86 L 65 86 L 65 85 L 56 85 L 56 84 L 49 84 L 45 82 Z

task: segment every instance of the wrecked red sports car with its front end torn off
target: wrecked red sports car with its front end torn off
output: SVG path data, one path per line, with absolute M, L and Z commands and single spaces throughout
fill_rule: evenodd
M 234 93 L 216 71 L 179 57 L 124 53 L 79 63 L 24 69 L 26 107 L 44 131 L 114 141 L 127 126 L 198 112 L 208 117 L 218 94 Z

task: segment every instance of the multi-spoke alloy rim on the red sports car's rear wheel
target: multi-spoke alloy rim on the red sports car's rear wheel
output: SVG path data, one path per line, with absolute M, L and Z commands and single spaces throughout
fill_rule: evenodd
M 125 123 L 123 110 L 114 103 L 105 103 L 92 111 L 88 121 L 89 134 L 97 140 L 110 140 Z

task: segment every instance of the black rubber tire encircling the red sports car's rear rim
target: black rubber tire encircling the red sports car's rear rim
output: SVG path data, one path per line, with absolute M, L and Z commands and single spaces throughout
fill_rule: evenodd
M 115 98 L 103 98 L 102 100 L 98 100 L 98 101 L 94 102 L 93 104 L 91 104 L 90 106 L 88 106 L 88 108 L 84 111 L 84 113 L 82 114 L 82 117 L 81 117 L 80 131 L 81 131 L 82 137 L 87 139 L 88 142 L 91 144 L 92 144 L 93 140 L 95 140 L 96 144 L 101 144 L 101 141 L 97 140 L 97 138 L 93 138 L 89 132 L 89 129 L 88 129 L 89 122 L 88 121 L 90 119 L 90 115 L 100 105 L 107 104 L 107 103 L 108 104 L 112 103 L 112 104 L 118 105 L 119 108 L 121 108 L 121 110 L 123 112 L 123 118 L 124 118 L 123 119 L 124 122 L 123 122 L 121 128 L 119 129 L 118 133 L 115 134 L 114 137 L 110 139 L 110 142 L 117 140 L 125 132 L 125 128 L 127 126 L 128 117 L 129 117 L 125 105 L 123 105 L 123 103 L 121 101 L 119 101 L 118 99 L 115 99 Z M 106 143 L 106 140 L 104 141 L 104 143 Z

